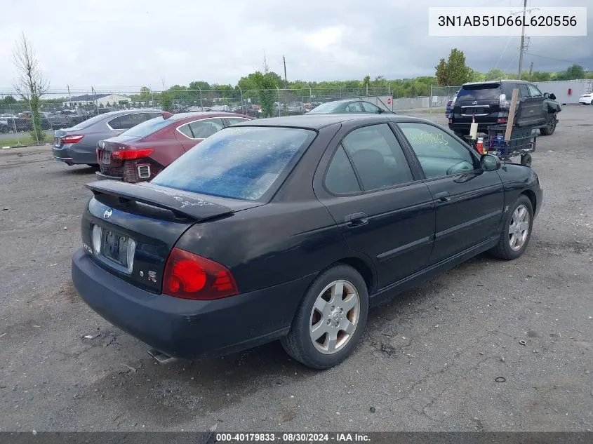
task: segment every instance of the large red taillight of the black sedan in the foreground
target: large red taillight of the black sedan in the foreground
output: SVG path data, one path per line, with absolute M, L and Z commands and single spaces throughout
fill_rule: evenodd
M 163 292 L 169 296 L 196 300 L 239 294 L 227 267 L 180 248 L 173 248 L 167 260 Z

